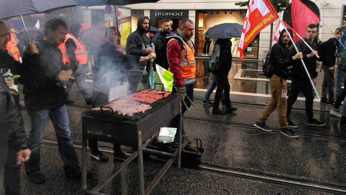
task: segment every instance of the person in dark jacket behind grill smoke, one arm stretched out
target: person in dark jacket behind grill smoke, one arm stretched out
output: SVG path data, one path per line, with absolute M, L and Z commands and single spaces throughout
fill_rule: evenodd
M 120 44 L 120 32 L 116 27 L 109 27 L 105 34 L 106 43 L 100 46 L 95 56 L 93 67 L 93 96 L 92 107 L 99 107 L 108 102 L 109 88 L 122 85 L 125 82 L 125 69 L 131 69 L 135 64 L 155 58 L 155 53 L 147 56 L 127 55 Z M 126 155 L 121 151 L 120 145 L 113 144 L 113 158 L 124 161 Z M 97 141 L 89 140 L 90 155 L 93 159 L 107 162 L 108 157 L 99 151 Z

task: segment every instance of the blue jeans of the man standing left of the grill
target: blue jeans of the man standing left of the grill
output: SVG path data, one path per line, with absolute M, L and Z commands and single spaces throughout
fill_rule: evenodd
M 69 128 L 69 117 L 67 116 L 66 105 L 53 109 L 42 109 L 28 111 L 31 131 L 29 135 L 29 148 L 31 150 L 30 160 L 25 162 L 27 175 L 40 171 L 40 146 L 43 142 L 44 128 L 47 124 L 48 117 L 52 120 L 60 156 L 64 161 L 64 170 L 67 174 L 78 173 L 81 168 L 78 164 L 76 151 L 71 139 Z M 53 160 L 53 159 L 52 159 Z

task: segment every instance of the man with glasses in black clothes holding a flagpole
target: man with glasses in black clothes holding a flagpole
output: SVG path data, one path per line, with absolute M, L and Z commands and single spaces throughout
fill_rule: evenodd
M 303 40 L 299 40 L 297 41 L 297 43 L 295 43 L 297 45 L 299 52 L 303 53 L 303 61 L 306 65 L 306 68 L 308 69 L 310 77 L 313 79 L 313 83 L 315 86 L 317 83 L 317 71 L 316 71 L 317 51 L 315 51 L 317 49 L 317 46 L 315 43 L 313 43 L 313 40 L 318 34 L 317 28 L 318 27 L 316 24 L 310 24 L 306 30 L 306 37 L 304 38 L 305 42 L 307 42 L 310 45 L 313 51 L 311 51 L 308 48 L 308 46 L 304 44 Z M 293 50 L 292 52 L 293 52 L 293 55 L 297 53 L 295 50 Z M 291 84 L 290 94 L 287 99 L 287 113 L 286 113 L 288 126 L 290 126 L 291 128 L 298 128 L 298 126 L 290 120 L 290 113 L 291 113 L 292 105 L 297 100 L 300 90 L 302 90 L 305 96 L 305 111 L 308 117 L 308 125 L 318 126 L 318 127 L 325 126 L 326 125 L 325 122 L 320 122 L 316 120 L 315 118 L 313 118 L 312 104 L 313 104 L 314 94 L 313 94 L 309 77 L 300 60 L 293 64 L 293 68 L 291 70 L 291 76 L 292 76 L 292 84 Z

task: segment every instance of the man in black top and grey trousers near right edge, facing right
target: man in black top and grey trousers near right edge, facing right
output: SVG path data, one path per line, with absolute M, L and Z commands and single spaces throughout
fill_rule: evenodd
M 338 32 L 337 28 L 334 37 L 319 45 L 319 53 L 322 53 L 322 69 L 324 72 L 322 83 L 322 97 L 320 103 L 328 103 L 334 105 L 334 65 L 336 62 L 336 55 L 340 51 L 339 40 L 344 35 L 344 32 Z M 328 99 L 327 99 L 328 94 Z

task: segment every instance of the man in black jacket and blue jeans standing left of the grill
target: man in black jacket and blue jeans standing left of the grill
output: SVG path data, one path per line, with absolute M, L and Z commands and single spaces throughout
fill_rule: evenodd
M 81 178 L 82 172 L 69 128 L 63 85 L 74 78 L 72 73 L 63 70 L 63 57 L 58 48 L 65 40 L 67 32 L 68 27 L 64 20 L 49 19 L 45 24 L 45 36 L 35 43 L 38 54 L 27 56 L 23 60 L 25 105 L 31 123 L 28 141 L 31 157 L 25 162 L 25 171 L 29 181 L 35 184 L 45 183 L 45 176 L 40 172 L 40 146 L 48 118 L 56 132 L 58 149 L 64 161 L 65 177 Z

